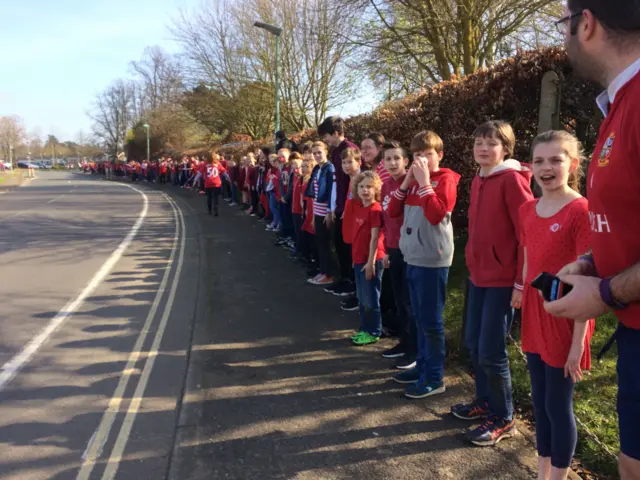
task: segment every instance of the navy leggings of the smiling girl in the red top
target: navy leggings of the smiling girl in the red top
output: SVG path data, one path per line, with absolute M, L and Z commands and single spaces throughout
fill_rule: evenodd
M 547 365 L 538 354 L 527 353 L 527 365 L 538 455 L 550 458 L 556 468 L 569 468 L 578 443 L 573 380 L 564 376 L 564 368 Z

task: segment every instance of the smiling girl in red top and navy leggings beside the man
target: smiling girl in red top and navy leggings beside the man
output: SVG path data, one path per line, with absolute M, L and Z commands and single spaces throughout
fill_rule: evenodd
M 531 376 L 539 472 L 566 478 L 577 443 L 573 387 L 591 368 L 594 321 L 574 322 L 545 312 L 531 286 L 589 249 L 588 203 L 578 193 L 582 146 L 571 134 L 550 131 L 533 141 L 533 176 L 542 197 L 520 207 L 525 279 L 522 349 Z

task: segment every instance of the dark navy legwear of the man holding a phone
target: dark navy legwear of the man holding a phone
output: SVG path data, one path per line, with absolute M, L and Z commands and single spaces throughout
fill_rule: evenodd
M 640 330 L 620 324 L 618 344 L 618 425 L 620 451 L 640 460 Z

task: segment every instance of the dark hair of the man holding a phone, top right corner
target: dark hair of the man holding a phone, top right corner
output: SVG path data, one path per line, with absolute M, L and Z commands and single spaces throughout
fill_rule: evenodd
M 575 13 L 589 10 L 618 42 L 640 36 L 640 0 L 569 0 L 567 6 Z

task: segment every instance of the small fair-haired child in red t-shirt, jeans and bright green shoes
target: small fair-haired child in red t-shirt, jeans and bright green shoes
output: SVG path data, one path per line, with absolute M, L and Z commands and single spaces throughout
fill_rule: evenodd
M 354 345 L 370 345 L 380 340 L 382 334 L 380 291 L 385 255 L 380 204 L 382 182 L 376 173 L 364 172 L 352 183 L 354 231 L 351 254 L 360 303 L 360 331 L 351 340 Z

